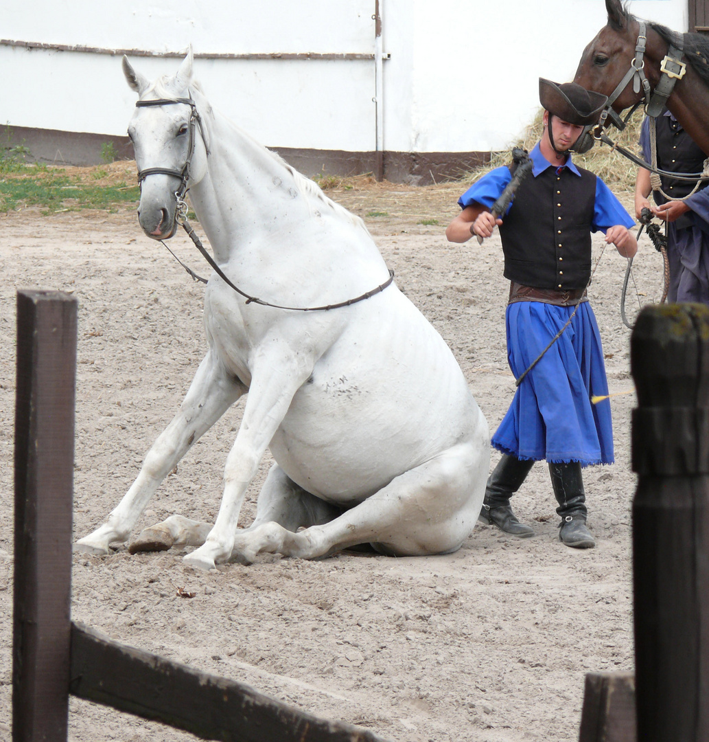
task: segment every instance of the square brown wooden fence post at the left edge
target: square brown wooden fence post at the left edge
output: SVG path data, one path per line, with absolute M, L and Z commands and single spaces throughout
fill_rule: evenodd
M 76 300 L 17 295 L 13 742 L 66 742 Z

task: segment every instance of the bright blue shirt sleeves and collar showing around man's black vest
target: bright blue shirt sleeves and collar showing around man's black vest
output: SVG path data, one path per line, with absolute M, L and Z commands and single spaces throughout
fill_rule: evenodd
M 539 144 L 532 149 L 530 153 L 530 160 L 532 160 L 532 176 L 537 177 L 538 174 L 544 172 L 547 168 L 553 168 L 552 165 L 543 154 Z M 573 174 L 581 177 L 581 173 L 578 172 L 578 168 L 572 162 L 571 156 L 567 157 L 567 161 L 561 168 L 568 168 Z M 479 203 L 481 206 L 487 206 L 488 209 L 492 209 L 492 205 L 498 199 L 502 191 L 504 191 L 507 183 L 512 180 L 512 174 L 510 174 L 510 168 L 507 165 L 503 165 L 501 168 L 495 168 L 490 171 L 477 183 L 473 183 L 470 188 L 458 199 L 458 204 L 461 209 L 465 209 L 466 206 L 470 206 L 473 203 Z M 514 205 L 514 201 L 510 204 L 510 209 Z M 508 209 L 509 211 L 509 209 Z M 590 224 L 591 232 L 607 232 L 616 224 L 621 224 L 624 227 L 630 229 L 635 226 L 635 220 L 630 217 L 630 214 L 624 209 L 620 201 L 613 195 L 610 188 L 596 176 L 596 201 L 594 204 L 593 222 Z

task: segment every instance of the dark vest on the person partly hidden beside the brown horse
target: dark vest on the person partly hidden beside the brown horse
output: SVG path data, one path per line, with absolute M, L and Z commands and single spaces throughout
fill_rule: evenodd
M 661 170 L 678 173 L 701 173 L 704 169 L 706 155 L 689 134 L 670 116 L 658 116 L 656 120 L 657 166 Z M 676 180 L 664 176 L 660 180 L 662 180 L 662 190 L 673 198 L 684 198 L 694 188 L 694 183 L 689 180 Z M 653 193 L 653 198 L 658 206 L 667 202 L 667 199 L 658 191 Z

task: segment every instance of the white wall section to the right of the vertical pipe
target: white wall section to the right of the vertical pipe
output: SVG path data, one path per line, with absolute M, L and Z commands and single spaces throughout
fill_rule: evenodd
M 634 0 L 629 9 L 686 30 L 686 5 Z M 429 0 L 386 0 L 384 47 L 392 63 L 384 68 L 385 149 L 506 147 L 538 111 L 538 78 L 573 79 L 584 47 L 606 20 L 603 0 L 443 0 L 435 13 Z M 408 47 L 407 65 L 394 64 L 400 46 Z M 404 113 L 410 125 L 392 126 Z

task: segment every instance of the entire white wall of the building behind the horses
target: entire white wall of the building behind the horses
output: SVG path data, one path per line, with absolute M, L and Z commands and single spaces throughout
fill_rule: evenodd
M 374 0 L 30 0 L 4 4 L 1 36 L 197 53 L 373 53 Z M 381 0 L 384 149 L 506 147 L 538 108 L 538 77 L 573 78 L 605 23 L 602 0 Z M 687 28 L 686 0 L 630 12 Z M 149 77 L 176 59 L 136 58 Z M 375 149 L 372 61 L 197 59 L 213 105 L 268 146 Z M 120 59 L 0 45 L 0 124 L 125 134 L 134 93 Z

